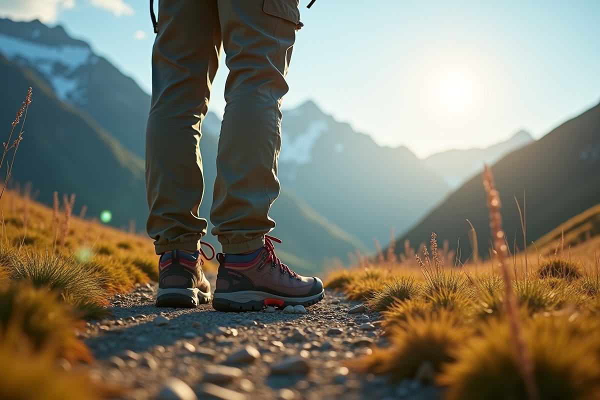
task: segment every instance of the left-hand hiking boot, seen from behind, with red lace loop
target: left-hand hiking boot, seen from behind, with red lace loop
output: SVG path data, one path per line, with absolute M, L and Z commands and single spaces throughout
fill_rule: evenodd
M 207 244 L 201 242 L 201 244 Z M 212 246 L 208 245 L 211 249 Z M 160 256 L 158 261 L 157 307 L 196 308 L 199 304 L 211 301 L 211 284 L 202 272 L 204 256 L 200 249 L 190 254 L 173 250 Z

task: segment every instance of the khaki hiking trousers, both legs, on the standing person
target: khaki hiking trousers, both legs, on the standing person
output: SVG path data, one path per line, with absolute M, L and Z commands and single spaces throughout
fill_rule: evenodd
M 280 107 L 298 23 L 297 0 L 160 0 L 146 129 L 146 228 L 157 254 L 196 251 L 206 234 L 198 144 L 221 46 L 229 76 L 212 234 L 235 254 L 263 246 L 275 227 L 268 212 L 280 191 Z

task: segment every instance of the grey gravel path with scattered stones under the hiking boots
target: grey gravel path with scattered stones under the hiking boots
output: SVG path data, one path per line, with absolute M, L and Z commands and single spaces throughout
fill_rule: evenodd
M 216 274 L 208 275 L 214 287 Z M 195 399 L 192 390 L 199 399 L 440 399 L 436 387 L 344 366 L 386 341 L 379 315 L 349 314 L 359 303 L 341 293 L 327 290 L 306 314 L 238 314 L 211 305 L 158 309 L 156 290 L 115 296 L 113 316 L 80 332 L 98 360 L 86 368 L 126 387 L 124 399 Z

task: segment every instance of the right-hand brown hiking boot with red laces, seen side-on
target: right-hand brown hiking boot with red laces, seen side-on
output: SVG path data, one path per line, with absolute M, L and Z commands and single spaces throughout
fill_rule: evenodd
M 212 307 L 217 311 L 258 311 L 265 306 L 310 306 L 325 296 L 323 282 L 298 275 L 281 263 L 271 240 L 247 255 L 217 254 L 219 270 Z

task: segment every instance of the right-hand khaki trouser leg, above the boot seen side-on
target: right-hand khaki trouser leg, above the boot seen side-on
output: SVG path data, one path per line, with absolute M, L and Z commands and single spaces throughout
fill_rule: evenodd
M 299 22 L 268 10 L 280 2 L 298 14 L 296 0 L 218 0 L 229 76 L 211 221 L 224 252 L 260 248 L 275 227 L 268 213 L 280 191 L 280 106 Z

